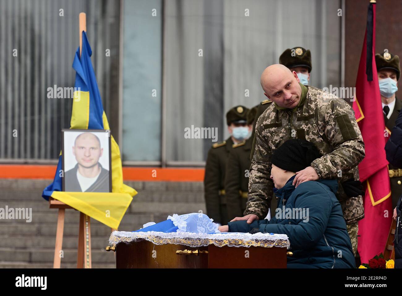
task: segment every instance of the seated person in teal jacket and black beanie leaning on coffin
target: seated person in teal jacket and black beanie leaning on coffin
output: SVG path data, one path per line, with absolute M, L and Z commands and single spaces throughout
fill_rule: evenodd
M 283 143 L 272 156 L 271 179 L 278 197 L 271 220 L 228 223 L 229 232 L 287 234 L 290 251 L 288 268 L 355 268 L 352 244 L 342 208 L 336 199 L 336 180 L 316 180 L 292 184 L 295 172 L 310 165 L 320 153 L 314 144 L 299 139 Z M 301 168 L 301 169 L 300 169 Z

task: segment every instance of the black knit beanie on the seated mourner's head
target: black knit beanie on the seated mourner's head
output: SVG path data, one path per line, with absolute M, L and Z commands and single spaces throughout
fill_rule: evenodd
M 272 164 L 282 170 L 299 172 L 321 156 L 313 143 L 301 139 L 290 139 L 273 152 Z

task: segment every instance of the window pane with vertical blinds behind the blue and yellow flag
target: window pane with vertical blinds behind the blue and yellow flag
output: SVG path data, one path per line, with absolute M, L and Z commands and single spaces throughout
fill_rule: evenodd
M 80 12 L 86 12 L 92 64 L 117 135 L 111 109 L 119 79 L 119 2 L 8 0 L 0 1 L 0 11 L 0 160 L 59 157 L 60 130 L 70 127 L 73 99 L 49 98 L 48 88 L 74 87 Z

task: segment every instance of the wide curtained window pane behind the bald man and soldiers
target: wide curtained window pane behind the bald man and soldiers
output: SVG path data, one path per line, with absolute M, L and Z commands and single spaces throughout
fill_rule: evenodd
M 213 142 L 186 139 L 184 129 L 217 127 L 226 139 L 226 112 L 265 99 L 260 75 L 287 48 L 311 50 L 311 85 L 340 86 L 338 8 L 330 0 L 167 1 L 167 160 L 204 161 Z

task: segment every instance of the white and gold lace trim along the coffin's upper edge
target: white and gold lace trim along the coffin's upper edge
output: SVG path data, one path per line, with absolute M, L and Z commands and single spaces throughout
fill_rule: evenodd
M 154 244 L 183 244 L 190 247 L 208 246 L 262 246 L 262 247 L 287 247 L 289 248 L 289 239 L 286 234 L 268 234 L 268 233 L 240 233 L 226 232 L 217 234 L 193 233 L 193 232 L 126 232 L 114 231 L 109 238 L 111 246 L 119 242 L 131 242 L 137 239 L 145 239 Z

